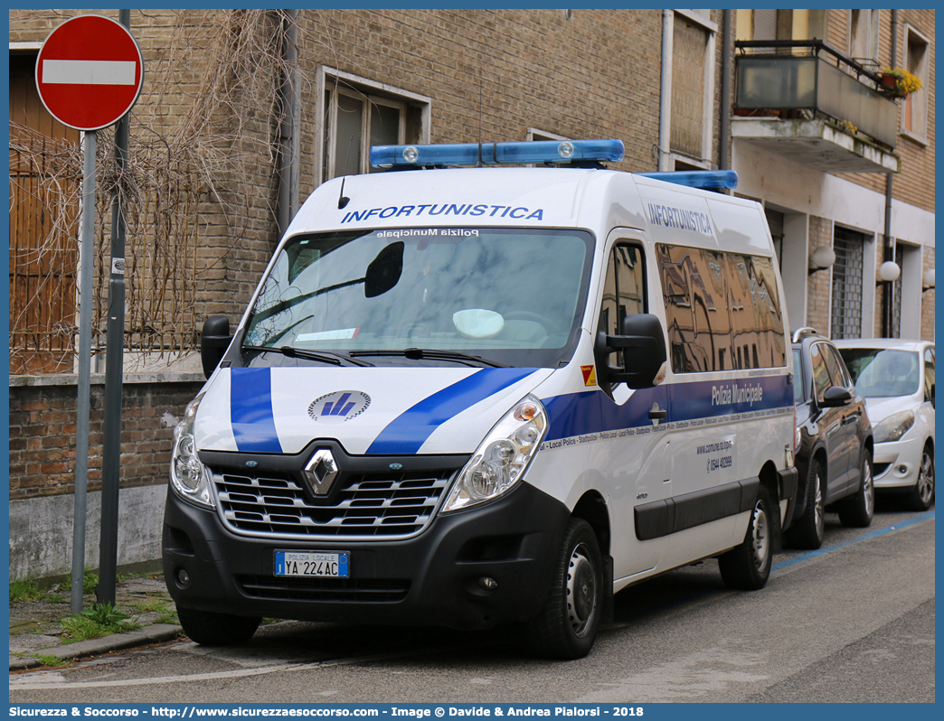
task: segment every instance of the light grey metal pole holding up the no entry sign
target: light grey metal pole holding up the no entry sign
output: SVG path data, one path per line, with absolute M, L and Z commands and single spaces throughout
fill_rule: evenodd
M 82 168 L 82 245 L 78 306 L 78 401 L 76 408 L 76 504 L 72 526 L 72 612 L 82 610 L 85 580 L 86 489 L 89 484 L 89 410 L 92 384 L 92 280 L 95 232 L 94 130 L 85 133 Z

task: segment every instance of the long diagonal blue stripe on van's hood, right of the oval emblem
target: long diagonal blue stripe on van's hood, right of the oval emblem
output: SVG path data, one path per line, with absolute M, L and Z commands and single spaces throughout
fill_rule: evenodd
M 533 368 L 482 368 L 403 411 L 380 431 L 367 455 L 416 453 L 447 420 L 533 372 Z

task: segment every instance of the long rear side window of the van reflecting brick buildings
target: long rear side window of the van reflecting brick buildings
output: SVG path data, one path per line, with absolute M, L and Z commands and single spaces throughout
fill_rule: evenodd
M 771 259 L 664 243 L 656 257 L 675 373 L 786 364 Z

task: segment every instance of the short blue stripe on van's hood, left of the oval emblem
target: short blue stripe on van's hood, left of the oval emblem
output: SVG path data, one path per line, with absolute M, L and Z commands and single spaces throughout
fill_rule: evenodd
M 229 422 L 236 447 L 251 453 L 281 453 L 272 412 L 271 368 L 232 368 Z

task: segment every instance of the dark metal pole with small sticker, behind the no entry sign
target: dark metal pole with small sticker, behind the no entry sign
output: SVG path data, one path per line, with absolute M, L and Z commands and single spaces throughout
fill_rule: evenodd
M 122 25 L 131 24 L 131 11 L 119 10 Z M 115 128 L 118 187 L 111 202 L 111 278 L 109 320 L 105 342 L 105 419 L 102 424 L 102 529 L 98 546 L 98 604 L 114 605 L 118 566 L 118 482 L 121 480 L 121 407 L 125 350 L 125 210 L 124 173 L 127 164 L 128 116 Z

